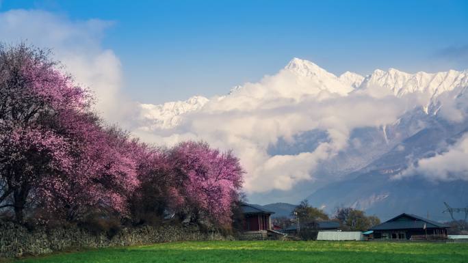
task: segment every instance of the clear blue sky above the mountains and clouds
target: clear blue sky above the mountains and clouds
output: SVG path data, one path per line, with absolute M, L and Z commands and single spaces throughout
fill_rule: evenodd
M 468 68 L 468 1 L 1 1 L 110 20 L 124 92 L 160 103 L 225 94 L 292 57 L 335 74 Z

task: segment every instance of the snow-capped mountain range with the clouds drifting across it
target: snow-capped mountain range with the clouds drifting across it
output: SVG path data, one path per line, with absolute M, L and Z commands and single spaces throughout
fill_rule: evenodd
M 246 191 L 259 204 L 309 197 L 328 212 L 352 206 L 381 217 L 388 210 L 436 213 L 443 201 L 468 204 L 467 180 L 394 178 L 468 133 L 467 89 L 467 70 L 337 77 L 294 58 L 223 96 L 140 105 L 138 130 L 163 143 L 203 139 L 233 149 L 247 171 Z

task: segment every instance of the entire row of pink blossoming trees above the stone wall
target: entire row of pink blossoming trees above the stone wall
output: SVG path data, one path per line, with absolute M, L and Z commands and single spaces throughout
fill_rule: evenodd
M 47 53 L 0 46 L 0 209 L 18 221 L 34 207 L 73 221 L 90 210 L 132 217 L 138 200 L 229 223 L 244 174 L 231 152 L 196 142 L 148 146 L 106 126 L 91 106 Z

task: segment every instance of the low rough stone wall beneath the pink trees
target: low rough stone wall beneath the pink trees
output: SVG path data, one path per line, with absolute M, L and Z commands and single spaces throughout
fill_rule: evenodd
M 149 245 L 183 240 L 225 240 L 219 232 L 201 232 L 197 227 L 124 228 L 112 238 L 92 234 L 79 227 L 38 227 L 27 230 L 22 225 L 0 221 L 0 258 L 40 255 L 66 249 Z

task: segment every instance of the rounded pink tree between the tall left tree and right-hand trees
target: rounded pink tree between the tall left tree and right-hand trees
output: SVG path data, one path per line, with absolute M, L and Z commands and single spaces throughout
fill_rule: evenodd
M 90 125 L 81 139 L 65 194 L 55 192 L 49 204 L 65 212 L 69 221 L 97 210 L 127 217 L 128 198 L 140 184 L 137 165 L 143 146 L 116 127 Z

